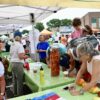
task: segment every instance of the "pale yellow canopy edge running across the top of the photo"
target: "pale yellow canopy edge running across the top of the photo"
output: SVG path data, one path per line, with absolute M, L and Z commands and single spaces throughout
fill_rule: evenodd
M 100 0 L 0 0 L 1 4 L 100 8 Z

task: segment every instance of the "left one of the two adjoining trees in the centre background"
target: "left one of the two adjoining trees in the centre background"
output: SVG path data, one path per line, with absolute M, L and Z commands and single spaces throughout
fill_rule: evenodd
M 49 28 L 59 27 L 60 24 L 61 24 L 61 21 L 59 19 L 52 19 L 49 22 L 47 22 L 47 26 Z

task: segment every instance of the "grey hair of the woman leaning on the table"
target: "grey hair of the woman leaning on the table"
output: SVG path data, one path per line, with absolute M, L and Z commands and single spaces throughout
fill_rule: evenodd
M 78 56 L 80 55 L 85 55 L 85 54 L 90 54 L 91 57 L 95 55 L 99 55 L 99 51 L 95 50 L 93 47 L 93 44 L 90 42 L 85 42 L 81 43 L 77 46 L 77 52 Z

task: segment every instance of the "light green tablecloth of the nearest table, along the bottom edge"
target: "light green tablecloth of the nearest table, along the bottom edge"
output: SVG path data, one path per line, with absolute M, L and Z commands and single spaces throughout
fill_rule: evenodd
M 96 94 L 91 94 L 89 92 L 86 92 L 84 95 L 79 95 L 79 96 L 72 96 L 68 90 L 64 90 L 63 88 L 65 88 L 66 85 L 64 86 L 60 86 L 54 89 L 50 89 L 50 90 L 46 90 L 46 91 L 41 91 L 38 93 L 33 93 L 33 94 L 29 94 L 29 95 L 25 95 L 25 96 L 21 96 L 21 97 L 17 97 L 17 98 L 12 98 L 9 100 L 26 100 L 26 99 L 33 99 L 35 100 L 35 97 L 39 97 L 48 93 L 55 93 L 56 95 L 58 95 L 60 98 L 62 98 L 61 100 L 100 100 L 100 99 L 95 99 L 97 97 Z M 80 87 L 77 87 L 80 88 Z M 38 100 L 38 99 L 36 99 Z

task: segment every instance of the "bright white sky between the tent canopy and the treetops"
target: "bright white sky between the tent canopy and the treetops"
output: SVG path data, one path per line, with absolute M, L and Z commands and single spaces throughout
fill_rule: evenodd
M 75 17 L 82 18 L 88 12 L 100 12 L 100 9 L 88 9 L 88 8 L 66 8 L 52 14 L 42 20 L 44 25 L 51 19 L 74 19 Z

